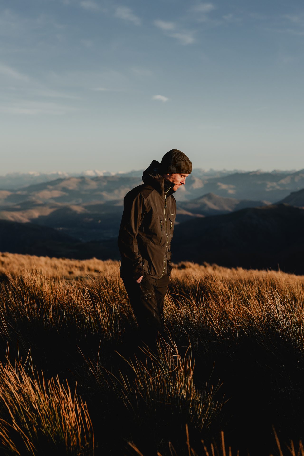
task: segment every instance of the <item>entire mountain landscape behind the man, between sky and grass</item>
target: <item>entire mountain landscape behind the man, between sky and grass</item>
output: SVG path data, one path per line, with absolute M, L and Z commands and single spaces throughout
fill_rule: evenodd
M 175 193 L 174 261 L 302 271 L 304 170 L 194 171 Z M 123 198 L 142 171 L 96 173 L 1 190 L 0 250 L 119 258 Z

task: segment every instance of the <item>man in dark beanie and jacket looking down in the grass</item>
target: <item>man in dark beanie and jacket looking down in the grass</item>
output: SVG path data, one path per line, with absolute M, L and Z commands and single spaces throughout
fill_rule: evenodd
M 192 163 L 180 150 L 153 160 L 144 184 L 124 198 L 118 246 L 120 276 L 128 293 L 141 338 L 149 343 L 162 330 L 164 298 L 172 269 L 170 242 L 176 203 L 173 193 L 185 184 Z

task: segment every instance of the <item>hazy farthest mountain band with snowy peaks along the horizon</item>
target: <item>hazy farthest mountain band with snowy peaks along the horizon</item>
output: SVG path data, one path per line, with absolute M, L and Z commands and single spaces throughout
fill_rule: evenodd
M 123 198 L 125 192 L 141 183 L 142 171 L 112 175 L 95 170 L 82 174 L 71 176 L 68 173 L 15 173 L 0 176 L 0 206 L 28 199 L 68 204 L 116 200 Z M 17 187 L 18 182 L 20 185 Z M 276 202 L 301 188 L 304 188 L 304 170 L 245 172 L 194 168 L 186 185 L 175 195 L 177 201 L 189 201 L 203 194 L 214 193 L 238 200 Z M 10 194 L 5 195 L 3 191 Z

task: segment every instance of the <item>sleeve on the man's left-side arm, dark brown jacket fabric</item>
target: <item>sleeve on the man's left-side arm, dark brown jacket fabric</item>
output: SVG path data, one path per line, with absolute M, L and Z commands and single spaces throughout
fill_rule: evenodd
M 127 193 L 124 198 L 124 212 L 119 228 L 118 247 L 122 263 L 129 264 L 134 280 L 144 274 L 143 260 L 136 240 L 144 212 L 144 198 L 141 193 L 135 197 L 134 194 Z

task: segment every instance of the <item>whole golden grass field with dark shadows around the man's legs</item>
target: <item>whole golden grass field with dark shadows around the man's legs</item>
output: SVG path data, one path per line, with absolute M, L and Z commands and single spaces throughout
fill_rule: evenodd
M 301 276 L 176 265 L 152 352 L 117 262 L 0 254 L 1 451 L 304 456 L 303 298 Z

